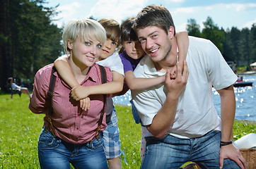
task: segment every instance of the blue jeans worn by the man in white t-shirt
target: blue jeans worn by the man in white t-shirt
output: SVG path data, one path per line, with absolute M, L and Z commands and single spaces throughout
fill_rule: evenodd
M 212 130 L 202 137 L 179 139 L 171 135 L 163 138 L 146 137 L 146 152 L 141 169 L 180 168 L 187 161 L 200 168 L 219 169 L 221 132 Z M 223 168 L 239 168 L 230 159 L 224 160 Z

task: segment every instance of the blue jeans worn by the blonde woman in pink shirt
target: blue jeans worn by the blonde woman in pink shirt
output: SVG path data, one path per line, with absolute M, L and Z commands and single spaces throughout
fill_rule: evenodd
M 43 168 L 108 168 L 102 136 L 91 143 L 71 144 L 54 137 L 45 128 L 38 139 L 38 157 Z

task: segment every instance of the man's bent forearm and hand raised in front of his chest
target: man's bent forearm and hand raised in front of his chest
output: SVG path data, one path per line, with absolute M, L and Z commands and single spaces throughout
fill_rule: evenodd
M 173 125 L 180 94 L 182 94 L 187 84 L 189 74 L 187 62 L 184 61 L 183 70 L 182 64 L 178 62 L 176 72 L 177 77 L 170 79 L 170 70 L 167 71 L 165 85 L 168 89 L 168 94 L 165 103 L 153 118 L 151 125 L 146 126 L 147 130 L 155 137 L 164 137 L 170 126 Z

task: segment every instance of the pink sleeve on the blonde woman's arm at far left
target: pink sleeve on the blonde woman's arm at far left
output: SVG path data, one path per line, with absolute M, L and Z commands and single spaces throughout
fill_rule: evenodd
M 35 74 L 33 94 L 28 106 L 33 113 L 45 113 L 45 104 L 47 102 L 47 92 L 50 82 L 50 73 L 48 72 L 40 69 Z

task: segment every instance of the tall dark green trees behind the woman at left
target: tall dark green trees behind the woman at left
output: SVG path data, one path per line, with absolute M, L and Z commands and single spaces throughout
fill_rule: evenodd
M 62 54 L 62 29 L 50 19 L 54 8 L 45 0 L 3 1 L 0 6 L 1 88 L 8 77 L 33 81 L 37 70 Z

